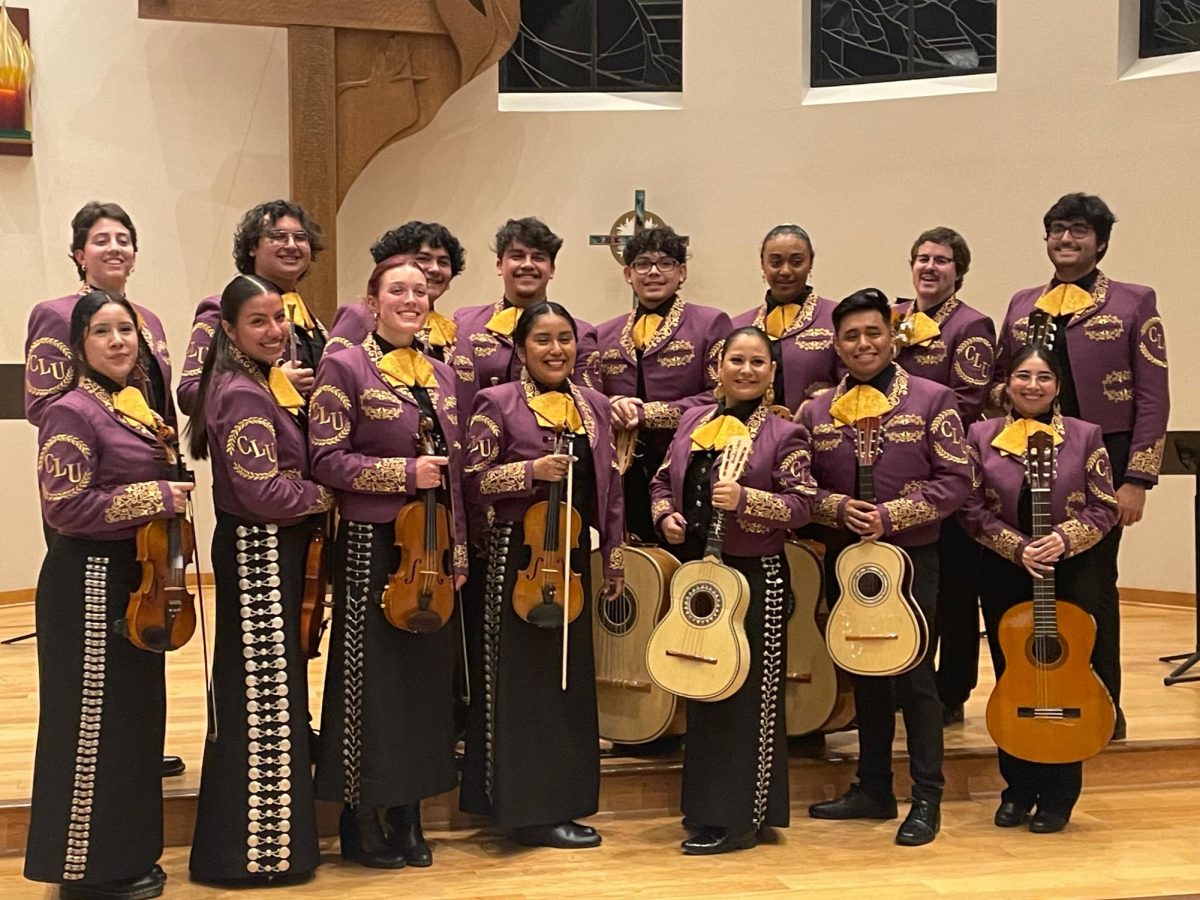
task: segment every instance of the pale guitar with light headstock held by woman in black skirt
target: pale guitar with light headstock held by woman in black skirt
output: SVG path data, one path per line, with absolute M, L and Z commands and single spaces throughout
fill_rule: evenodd
M 719 480 L 742 476 L 751 446 L 749 437 L 730 439 L 721 452 Z M 745 632 L 750 584 L 721 562 L 724 538 L 725 511 L 714 510 L 704 556 L 680 565 L 671 578 L 671 610 L 646 647 L 654 683 L 688 700 L 725 700 L 750 672 Z

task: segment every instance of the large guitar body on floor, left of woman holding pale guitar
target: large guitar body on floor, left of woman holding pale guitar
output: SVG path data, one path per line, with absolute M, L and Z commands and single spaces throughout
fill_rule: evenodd
M 592 646 L 595 654 L 600 737 L 644 744 L 683 732 L 683 704 L 659 688 L 646 667 L 650 634 L 670 607 L 679 560 L 660 547 L 625 545 L 625 590 L 604 599 L 604 558 L 592 554 Z

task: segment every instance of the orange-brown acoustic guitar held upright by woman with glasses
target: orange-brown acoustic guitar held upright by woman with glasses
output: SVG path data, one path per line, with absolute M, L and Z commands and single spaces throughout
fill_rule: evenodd
M 1054 438 L 1030 437 L 1025 475 L 1033 499 L 1033 536 L 1051 530 Z M 1030 762 L 1079 762 L 1112 738 L 1116 709 L 1092 670 L 1096 622 L 1055 598 L 1054 572 L 1033 580 L 1033 600 L 1003 614 L 996 638 L 1004 674 L 988 700 L 996 745 Z

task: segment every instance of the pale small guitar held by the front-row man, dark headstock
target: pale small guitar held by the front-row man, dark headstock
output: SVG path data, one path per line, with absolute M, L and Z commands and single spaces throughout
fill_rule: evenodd
M 860 499 L 875 503 L 875 460 L 882 444 L 878 418 L 856 426 Z M 841 595 L 829 612 L 826 646 L 853 674 L 896 676 L 920 662 L 929 628 L 912 599 L 912 560 L 901 547 L 860 540 L 838 554 Z

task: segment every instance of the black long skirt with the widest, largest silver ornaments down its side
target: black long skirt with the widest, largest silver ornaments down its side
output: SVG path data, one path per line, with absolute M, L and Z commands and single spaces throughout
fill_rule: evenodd
M 220 514 L 212 534 L 216 739 L 204 745 L 190 869 L 200 881 L 299 875 L 320 863 L 300 649 L 312 526 Z

